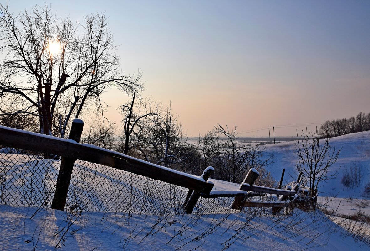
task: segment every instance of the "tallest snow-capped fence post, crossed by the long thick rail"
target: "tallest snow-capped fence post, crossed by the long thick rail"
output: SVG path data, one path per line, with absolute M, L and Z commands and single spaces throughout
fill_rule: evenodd
M 75 142 L 79 143 L 83 128 L 84 122 L 81 119 L 74 119 L 68 139 L 73 139 Z M 51 203 L 51 208 L 53 209 L 62 211 L 64 210 L 74 162 L 75 159 L 61 157 L 57 185 L 55 186 L 54 199 L 53 203 Z

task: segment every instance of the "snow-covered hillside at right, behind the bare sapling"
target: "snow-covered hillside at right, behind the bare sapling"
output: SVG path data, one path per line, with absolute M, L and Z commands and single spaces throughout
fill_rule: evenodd
M 290 182 L 297 177 L 297 156 L 293 152 L 297 141 L 266 145 L 265 154 L 275 156 L 275 163 L 267 169 L 276 180 L 280 180 L 282 169 L 285 168 L 284 181 Z M 319 194 L 319 203 L 336 211 L 336 214 L 370 214 L 369 198 L 363 197 L 366 183 L 370 182 L 370 131 L 351 133 L 330 139 L 330 146 L 342 149 L 337 162 L 331 167 L 332 173 L 338 171 L 337 177 L 323 183 Z M 341 183 L 343 171 L 360 167 L 361 182 L 359 187 L 348 188 Z M 294 178 L 293 178 L 294 177 Z

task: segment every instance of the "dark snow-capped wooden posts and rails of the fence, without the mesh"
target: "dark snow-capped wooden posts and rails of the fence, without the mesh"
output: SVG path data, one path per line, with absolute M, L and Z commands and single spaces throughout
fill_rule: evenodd
M 231 206 L 232 209 L 242 210 L 245 206 L 272 207 L 273 213 L 279 212 L 282 207 L 291 203 L 297 197 L 298 184 L 295 187 L 287 186 L 286 190 L 253 186 L 253 183 L 259 176 L 258 172 L 253 168 L 249 170 L 245 180 L 240 184 L 239 190 L 214 191 L 212 190 L 213 183 L 207 182 L 214 172 L 212 167 L 208 167 L 201 177 L 196 177 L 94 145 L 80 144 L 78 142 L 83 125 L 83 121 L 75 119 L 68 139 L 0 126 L 1 146 L 61 156 L 61 166 L 55 187 L 53 204 L 51 205 L 53 209 L 64 210 L 73 164 L 76 159 L 110 166 L 115 169 L 185 187 L 189 189 L 184 203 L 184 210 L 188 214 L 191 214 L 194 210 L 199 197 L 235 197 Z M 271 199 L 262 202 L 247 200 L 248 197 L 266 194 L 276 194 L 279 197 L 276 200 Z

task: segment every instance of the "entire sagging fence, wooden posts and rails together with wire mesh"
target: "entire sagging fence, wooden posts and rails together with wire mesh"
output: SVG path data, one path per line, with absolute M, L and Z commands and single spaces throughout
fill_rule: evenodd
M 160 214 L 165 210 L 179 213 L 184 208 L 189 214 L 195 208 L 196 213 L 204 214 L 240 211 L 243 207 L 273 207 L 273 213 L 277 213 L 296 198 L 297 186 L 292 191 L 253 186 L 259 176 L 255 169 L 249 171 L 239 190 L 215 191 L 212 190 L 213 183 L 206 182 L 214 171 L 211 167 L 201 177 L 196 177 L 101 147 L 80 144 L 81 122 L 74 121 L 69 139 L 0 126 L 1 146 L 62 157 L 59 161 L 42 159 L 34 153 L 24 155 L 24 151 L 1 154 L 0 203 L 7 203 L 6 186 L 9 183 L 16 188 L 8 192 L 8 197 L 20 197 L 18 201 L 9 199 L 11 204 L 51 205 L 51 208 L 60 210 L 68 206 L 70 210 Z M 76 126 L 80 126 L 80 132 L 73 131 Z M 17 157 L 11 157 L 14 155 Z M 70 173 L 69 177 L 62 176 L 65 170 Z M 186 197 L 184 189 L 189 189 Z M 280 197 L 274 199 L 270 194 Z M 268 200 L 250 200 L 255 196 Z M 235 197 L 233 201 L 228 200 L 232 202 L 231 206 L 227 201 L 230 197 Z M 220 201 L 221 198 L 225 200 Z M 38 200 L 38 203 L 30 203 L 32 200 Z

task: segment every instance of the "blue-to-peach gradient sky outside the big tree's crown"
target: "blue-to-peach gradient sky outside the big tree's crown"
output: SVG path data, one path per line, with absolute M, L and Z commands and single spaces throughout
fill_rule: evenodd
M 44 1 L 12 0 L 13 12 Z M 169 104 L 189 136 L 293 136 L 370 112 L 370 1 L 47 1 L 57 16 L 109 17 L 126 74 Z M 104 94 L 107 117 L 127 95 Z M 263 129 L 263 130 L 260 130 Z M 271 131 L 272 132 L 272 131 Z

